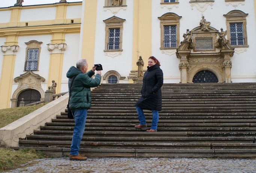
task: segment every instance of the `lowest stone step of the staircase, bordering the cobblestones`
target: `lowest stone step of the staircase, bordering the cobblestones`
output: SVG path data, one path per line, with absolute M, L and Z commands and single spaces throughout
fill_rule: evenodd
M 66 147 L 12 147 L 12 149 L 35 149 L 48 156 L 68 156 Z M 255 149 L 80 149 L 80 153 L 90 158 L 97 157 L 236 157 L 250 158 L 256 156 Z

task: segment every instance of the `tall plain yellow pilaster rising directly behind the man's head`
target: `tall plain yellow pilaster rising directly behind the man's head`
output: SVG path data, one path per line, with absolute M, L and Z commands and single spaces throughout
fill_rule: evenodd
M 97 0 L 86 0 L 84 5 L 81 58 L 85 58 L 89 69 L 93 66 L 95 50 Z

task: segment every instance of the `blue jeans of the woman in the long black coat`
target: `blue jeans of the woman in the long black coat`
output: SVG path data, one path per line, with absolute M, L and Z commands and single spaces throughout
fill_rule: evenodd
M 140 125 L 146 124 L 146 119 L 145 119 L 145 115 L 142 108 L 136 106 L 136 110 L 138 113 L 138 119 L 139 119 Z M 151 123 L 151 129 L 157 130 L 157 124 L 159 120 L 158 110 L 152 110 L 152 115 L 153 115 L 153 119 Z

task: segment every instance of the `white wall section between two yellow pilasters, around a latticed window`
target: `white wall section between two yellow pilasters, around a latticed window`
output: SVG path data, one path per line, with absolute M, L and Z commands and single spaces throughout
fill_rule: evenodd
M 97 17 L 96 17 L 96 38 L 95 38 L 95 60 L 94 63 L 100 63 L 103 66 L 102 76 L 110 71 L 117 71 L 121 76 L 126 77 L 125 80 L 120 80 L 119 83 L 127 83 L 129 73 L 132 69 L 132 48 L 133 48 L 133 1 L 126 1 L 129 7 L 125 11 L 120 9 L 116 17 L 125 19 L 123 23 L 123 42 L 122 54 L 116 57 L 105 56 L 105 23 L 114 14 L 111 11 L 104 11 L 104 1 L 98 1 Z M 105 83 L 105 81 L 104 81 Z

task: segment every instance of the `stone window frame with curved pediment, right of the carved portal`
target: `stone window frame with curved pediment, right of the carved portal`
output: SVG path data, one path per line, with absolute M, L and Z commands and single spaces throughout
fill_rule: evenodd
M 227 39 L 231 43 L 230 38 L 230 23 L 242 23 L 243 24 L 243 32 L 244 32 L 244 45 L 232 45 L 232 47 L 239 48 L 239 47 L 249 47 L 248 40 L 247 40 L 247 22 L 246 17 L 248 14 L 245 14 L 244 12 L 240 10 L 232 10 L 228 12 L 227 14 L 223 15 L 226 18 L 226 26 L 227 26 Z

